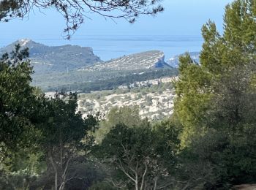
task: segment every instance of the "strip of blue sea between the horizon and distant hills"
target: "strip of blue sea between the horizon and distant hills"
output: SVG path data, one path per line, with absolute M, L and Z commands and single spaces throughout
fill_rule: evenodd
M 71 40 L 38 38 L 32 39 L 45 45 L 80 45 L 92 47 L 94 54 L 103 61 L 111 58 L 140 53 L 146 50 L 162 50 L 165 59 L 179 55 L 184 52 L 200 51 L 203 39 L 200 36 L 79 36 Z M 7 41 L 4 42 L 7 45 Z

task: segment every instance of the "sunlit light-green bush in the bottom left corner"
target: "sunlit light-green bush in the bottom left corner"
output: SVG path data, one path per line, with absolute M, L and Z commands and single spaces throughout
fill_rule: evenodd
M 8 152 L 0 166 L 0 189 L 26 189 L 46 170 L 43 153 L 20 149 Z

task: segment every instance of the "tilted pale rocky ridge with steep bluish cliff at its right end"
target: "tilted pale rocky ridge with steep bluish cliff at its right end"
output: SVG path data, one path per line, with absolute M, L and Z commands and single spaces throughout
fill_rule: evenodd
M 97 63 L 83 68 L 85 71 L 108 71 L 108 70 L 137 70 L 166 68 L 170 66 L 165 63 L 165 55 L 162 51 L 151 50 L 142 53 L 135 53 L 129 56 L 113 58 L 110 61 Z

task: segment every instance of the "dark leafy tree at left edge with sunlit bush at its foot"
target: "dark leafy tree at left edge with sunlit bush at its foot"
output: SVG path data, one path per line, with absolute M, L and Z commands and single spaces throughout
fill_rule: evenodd
M 37 145 L 42 137 L 37 129 L 39 96 L 30 86 L 32 67 L 27 56 L 28 49 L 15 45 L 0 60 L 0 178 L 1 187 L 7 189 L 29 186 L 45 170 Z

